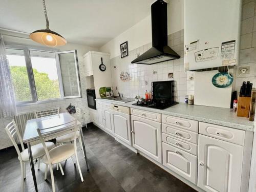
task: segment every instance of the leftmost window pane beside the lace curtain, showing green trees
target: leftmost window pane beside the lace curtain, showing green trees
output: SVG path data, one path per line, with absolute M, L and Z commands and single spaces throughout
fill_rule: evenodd
M 6 49 L 6 52 L 10 65 L 16 102 L 32 101 L 24 51 L 22 49 Z

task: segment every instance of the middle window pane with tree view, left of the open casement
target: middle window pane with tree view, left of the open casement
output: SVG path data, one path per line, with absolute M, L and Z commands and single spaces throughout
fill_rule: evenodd
M 60 98 L 55 53 L 30 50 L 38 100 Z

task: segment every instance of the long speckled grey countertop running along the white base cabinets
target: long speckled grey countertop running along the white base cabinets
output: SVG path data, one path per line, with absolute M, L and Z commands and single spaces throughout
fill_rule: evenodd
M 215 108 L 212 106 L 188 105 L 184 103 L 179 103 L 174 106 L 171 106 L 170 108 L 158 110 L 153 108 L 145 108 L 143 106 L 132 105 L 132 103 L 135 103 L 135 101 L 121 103 L 108 99 L 95 100 L 122 106 L 129 106 L 130 108 L 161 113 L 165 115 L 172 115 L 186 119 L 193 119 L 197 121 L 228 126 L 239 130 L 254 131 L 254 122 L 249 121 L 248 118 L 237 117 L 237 114 L 235 112 L 225 108 Z

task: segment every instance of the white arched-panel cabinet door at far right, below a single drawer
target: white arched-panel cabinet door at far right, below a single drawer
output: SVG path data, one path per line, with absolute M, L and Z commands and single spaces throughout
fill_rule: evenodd
M 198 186 L 205 191 L 240 191 L 243 147 L 199 135 Z

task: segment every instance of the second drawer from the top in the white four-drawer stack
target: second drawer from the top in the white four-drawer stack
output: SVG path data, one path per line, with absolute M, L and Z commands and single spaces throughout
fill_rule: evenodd
M 198 134 L 163 123 L 163 133 L 197 144 Z

